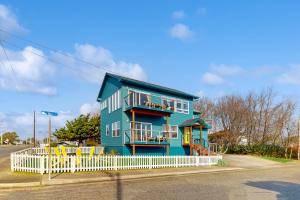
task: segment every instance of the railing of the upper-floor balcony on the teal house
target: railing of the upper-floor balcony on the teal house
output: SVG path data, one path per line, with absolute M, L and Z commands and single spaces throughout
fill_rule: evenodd
M 173 113 L 175 101 L 162 96 L 142 92 L 129 92 L 123 100 L 125 110 L 142 108 Z

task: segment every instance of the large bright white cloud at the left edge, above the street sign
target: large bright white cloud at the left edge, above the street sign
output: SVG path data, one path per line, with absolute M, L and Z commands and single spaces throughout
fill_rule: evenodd
M 56 88 L 50 84 L 55 67 L 38 56 L 47 57 L 43 51 L 31 46 L 21 51 L 5 51 L 9 59 L 0 54 L 0 89 L 56 95 Z

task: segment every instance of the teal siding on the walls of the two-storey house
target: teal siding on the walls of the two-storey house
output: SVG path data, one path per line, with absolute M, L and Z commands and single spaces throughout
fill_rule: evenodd
M 183 128 L 180 128 L 179 125 L 184 122 L 185 120 L 191 119 L 195 117 L 193 115 L 193 99 L 191 97 L 183 98 L 182 96 L 171 95 L 167 93 L 163 93 L 158 90 L 152 89 L 143 89 L 137 86 L 132 85 L 125 85 L 121 83 L 117 79 L 114 78 L 107 78 L 106 81 L 103 83 L 105 84 L 102 88 L 101 92 L 101 99 L 106 100 L 110 97 L 113 93 L 117 90 L 121 92 L 121 105 L 122 107 L 116 111 L 108 113 L 108 104 L 107 108 L 101 111 L 101 142 L 102 145 L 105 147 L 105 152 L 110 153 L 112 149 L 116 150 L 119 154 L 123 155 L 130 155 L 132 154 L 131 147 L 124 144 L 124 132 L 130 129 L 130 122 L 131 122 L 131 114 L 124 112 L 124 105 L 123 105 L 123 98 L 128 95 L 128 89 L 134 89 L 141 92 L 150 93 L 152 95 L 157 96 L 166 96 L 169 98 L 174 99 L 181 99 L 189 102 L 189 114 L 178 113 L 174 112 L 169 117 L 169 124 L 177 125 L 178 126 L 178 137 L 176 139 L 170 139 L 170 155 L 189 155 L 189 148 L 183 147 Z M 146 122 L 152 123 L 152 130 L 153 131 L 162 131 L 163 124 L 166 123 L 165 117 L 149 117 L 149 116 L 141 116 L 136 114 L 135 121 L 137 122 Z M 112 137 L 112 123 L 120 121 L 120 137 Z M 106 124 L 109 124 L 109 135 L 106 136 Z M 203 139 L 207 141 L 207 129 L 203 129 Z M 194 138 L 199 138 L 200 133 L 199 129 L 193 129 L 193 136 Z M 205 143 L 207 147 L 208 144 Z M 136 154 L 137 155 L 165 155 L 166 149 L 165 147 L 136 147 Z

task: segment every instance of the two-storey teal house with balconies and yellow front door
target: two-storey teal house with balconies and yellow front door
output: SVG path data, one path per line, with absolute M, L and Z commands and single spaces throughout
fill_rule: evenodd
M 193 109 L 197 98 L 175 89 L 106 73 L 97 99 L 105 152 L 207 154 L 210 125 Z

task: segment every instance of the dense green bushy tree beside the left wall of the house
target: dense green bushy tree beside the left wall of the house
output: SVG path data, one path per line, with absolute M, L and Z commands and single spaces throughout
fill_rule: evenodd
M 54 136 L 59 140 L 78 141 L 80 144 L 83 140 L 100 139 L 100 116 L 97 115 L 80 115 L 72 121 L 67 121 L 66 126 L 55 131 Z

